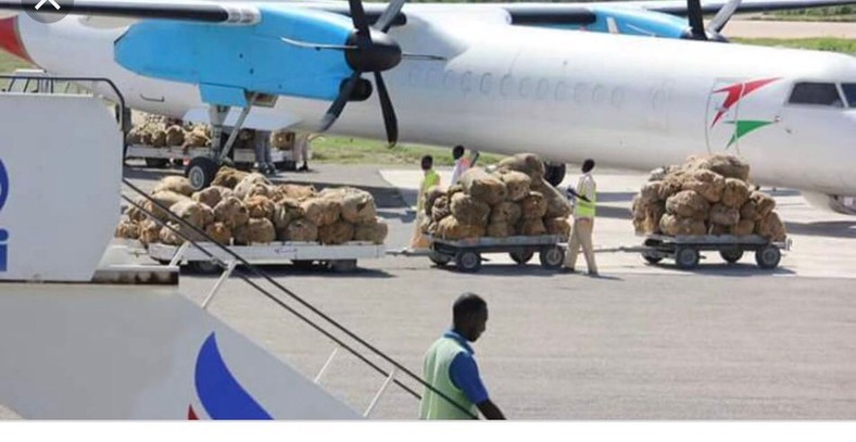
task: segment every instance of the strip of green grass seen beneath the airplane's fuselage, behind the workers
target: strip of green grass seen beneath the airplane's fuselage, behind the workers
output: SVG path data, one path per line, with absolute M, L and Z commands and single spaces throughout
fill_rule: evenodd
M 317 163 L 336 164 L 401 164 L 418 166 L 424 155 L 433 156 L 435 165 L 452 166 L 452 147 L 437 148 L 423 144 L 399 144 L 387 148 L 383 141 L 352 137 L 322 136 L 312 142 L 312 159 Z M 482 153 L 479 165 L 495 164 L 503 156 Z

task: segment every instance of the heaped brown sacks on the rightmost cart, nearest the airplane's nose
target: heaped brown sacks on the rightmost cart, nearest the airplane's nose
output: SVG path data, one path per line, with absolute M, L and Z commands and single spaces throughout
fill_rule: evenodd
M 760 235 L 783 241 L 776 200 L 752 191 L 748 176 L 747 164 L 721 154 L 653 171 L 633 199 L 637 235 Z

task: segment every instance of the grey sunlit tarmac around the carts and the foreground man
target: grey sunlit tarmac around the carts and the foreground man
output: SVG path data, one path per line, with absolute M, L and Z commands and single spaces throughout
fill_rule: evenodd
M 445 178 L 449 171 L 441 173 Z M 142 187 L 163 175 L 126 174 Z M 370 191 L 390 226 L 388 248 L 407 243 L 418 171 L 319 165 L 281 178 Z M 596 247 L 639 243 L 627 211 L 644 178 L 597 171 Z M 597 255 L 601 278 L 556 274 L 537 262 L 519 266 L 502 255 L 489 256 L 478 274 L 405 256 L 361 261 L 358 271 L 344 275 L 265 269 L 416 374 L 425 350 L 450 326 L 454 299 L 464 291 L 483 295 L 490 320 L 474 346 L 493 401 L 512 419 L 853 419 L 856 219 L 811 209 L 796 192 L 773 194 L 794 238 L 776 271 L 759 270 L 751 257 L 729 266 L 716 256 L 698 270 L 679 271 L 624 253 Z M 184 273 L 179 288 L 201 303 L 215 280 Z M 336 349 L 237 278 L 210 311 L 311 378 Z M 322 384 L 362 411 L 383 380 L 340 350 Z M 392 386 L 372 417 L 417 413 L 418 401 Z M 0 418 L 16 417 L 0 409 Z

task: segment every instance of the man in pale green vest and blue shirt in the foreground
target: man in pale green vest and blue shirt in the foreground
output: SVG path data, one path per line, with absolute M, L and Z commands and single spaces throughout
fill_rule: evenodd
M 475 293 L 464 293 L 452 312 L 453 328 L 425 354 L 423 377 L 433 389 L 426 388 L 423 393 L 419 418 L 477 419 L 481 412 L 488 419 L 505 419 L 488 396 L 469 346 L 484 332 L 488 303 Z

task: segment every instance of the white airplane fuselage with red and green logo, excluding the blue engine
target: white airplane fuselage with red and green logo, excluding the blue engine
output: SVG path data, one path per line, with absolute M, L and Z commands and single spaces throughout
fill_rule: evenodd
M 448 60 L 404 60 L 383 74 L 402 141 L 534 152 L 556 162 L 591 157 L 635 169 L 728 152 L 748 161 L 758 184 L 856 195 L 856 103 L 788 103 L 798 81 L 856 84 L 856 58 L 417 11 L 405 8 L 407 26 L 390 36 L 405 52 Z M 78 17 L 43 25 L 22 15 L 18 29 L 39 66 L 111 78 L 134 109 L 182 117 L 205 106 L 194 85 L 146 78 L 118 65 L 114 41 L 126 27 L 96 29 Z M 728 104 L 728 90 L 753 81 L 763 85 Z M 295 127 L 312 130 L 328 106 L 280 97 L 251 115 L 290 115 Z M 758 127 L 738 137 L 741 122 Z M 349 103 L 330 131 L 383 139 L 377 99 Z

